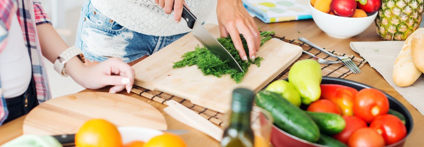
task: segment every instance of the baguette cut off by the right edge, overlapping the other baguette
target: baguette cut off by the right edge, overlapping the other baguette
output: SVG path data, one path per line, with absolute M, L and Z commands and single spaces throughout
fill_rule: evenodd
M 424 31 L 417 32 L 412 38 L 411 55 L 415 67 L 424 73 Z

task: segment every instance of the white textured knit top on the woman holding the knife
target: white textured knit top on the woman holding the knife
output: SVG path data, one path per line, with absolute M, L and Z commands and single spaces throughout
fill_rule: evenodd
M 125 28 L 154 36 L 171 36 L 191 31 L 187 22 L 175 22 L 173 12 L 165 14 L 154 0 L 91 0 L 93 6 Z M 199 22 L 212 10 L 212 0 L 185 0 Z

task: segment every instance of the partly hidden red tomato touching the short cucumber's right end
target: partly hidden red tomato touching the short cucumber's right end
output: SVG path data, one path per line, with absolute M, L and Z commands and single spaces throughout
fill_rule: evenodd
M 343 119 L 345 119 L 346 127 L 342 132 L 333 135 L 333 138 L 347 144 L 352 133 L 360 128 L 366 128 L 367 123 L 357 116 L 343 116 Z

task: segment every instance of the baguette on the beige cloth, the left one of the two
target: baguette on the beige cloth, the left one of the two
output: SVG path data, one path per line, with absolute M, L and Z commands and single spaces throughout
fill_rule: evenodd
M 418 28 L 405 40 L 402 50 L 400 50 L 395 64 L 393 66 L 393 81 L 399 87 L 412 85 L 421 75 L 421 71 L 415 67 L 411 55 L 411 40 L 413 36 L 424 31 L 424 28 Z

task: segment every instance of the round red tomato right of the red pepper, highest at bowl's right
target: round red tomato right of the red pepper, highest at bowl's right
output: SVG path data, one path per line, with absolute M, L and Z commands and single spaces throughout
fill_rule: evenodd
M 362 89 L 355 96 L 353 114 L 367 123 L 379 115 L 387 114 L 388 111 L 389 100 L 377 89 Z

